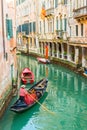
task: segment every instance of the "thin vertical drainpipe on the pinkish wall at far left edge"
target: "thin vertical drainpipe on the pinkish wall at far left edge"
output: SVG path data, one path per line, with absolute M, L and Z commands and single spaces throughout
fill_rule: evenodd
M 4 54 L 4 58 L 5 58 L 5 35 L 4 35 L 4 11 L 3 11 L 3 0 L 1 0 L 1 15 L 2 15 L 3 54 Z

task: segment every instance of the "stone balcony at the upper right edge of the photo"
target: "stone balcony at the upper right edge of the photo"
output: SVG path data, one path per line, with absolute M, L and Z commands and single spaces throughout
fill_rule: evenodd
M 87 6 L 74 9 L 73 12 L 74 12 L 74 18 L 75 19 L 77 19 L 77 20 L 87 19 Z

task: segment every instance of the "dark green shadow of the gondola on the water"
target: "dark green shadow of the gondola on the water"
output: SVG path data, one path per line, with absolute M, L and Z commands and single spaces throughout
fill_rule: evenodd
M 44 94 L 44 97 L 40 100 L 40 103 L 42 104 L 43 101 L 46 99 L 48 93 L 46 92 Z M 34 118 L 34 120 L 38 117 L 38 114 L 40 113 L 40 107 L 41 105 L 36 104 L 35 107 L 32 107 L 32 109 L 27 110 L 24 113 L 15 114 L 14 119 L 12 121 L 11 130 L 22 130 L 24 126 L 26 126 L 31 118 Z

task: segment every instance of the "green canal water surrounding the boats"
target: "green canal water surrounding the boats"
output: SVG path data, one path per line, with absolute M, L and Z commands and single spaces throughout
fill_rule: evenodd
M 9 110 L 14 97 L 0 120 L 0 130 L 87 130 L 87 79 L 58 65 L 38 64 L 29 56 L 18 56 L 19 75 L 29 67 L 35 82 L 48 78 L 47 92 L 36 104 L 22 114 Z M 27 88 L 31 85 L 27 85 Z

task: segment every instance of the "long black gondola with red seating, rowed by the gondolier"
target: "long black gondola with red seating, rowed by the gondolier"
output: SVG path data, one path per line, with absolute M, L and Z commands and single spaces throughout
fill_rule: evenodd
M 10 110 L 16 113 L 20 113 L 34 106 L 45 94 L 47 84 L 48 84 L 47 78 L 43 78 L 40 81 L 38 81 L 28 90 L 29 95 L 36 93 L 36 98 L 30 96 L 32 99 L 34 99 L 33 102 L 27 104 L 26 102 L 22 102 L 20 101 L 20 99 L 17 99 L 17 101 L 10 107 Z

